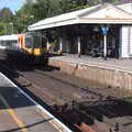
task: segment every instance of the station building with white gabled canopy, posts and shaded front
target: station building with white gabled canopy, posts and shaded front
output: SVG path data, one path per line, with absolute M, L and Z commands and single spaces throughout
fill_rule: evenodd
M 29 31 L 41 32 L 47 50 L 54 32 L 58 38 L 54 51 L 129 58 L 132 57 L 132 3 L 97 4 L 38 21 Z

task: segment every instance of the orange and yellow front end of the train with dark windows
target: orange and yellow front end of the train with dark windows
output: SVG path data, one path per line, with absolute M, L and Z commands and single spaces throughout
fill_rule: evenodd
M 42 62 L 46 54 L 46 44 L 41 33 L 19 34 L 21 50 L 32 62 Z

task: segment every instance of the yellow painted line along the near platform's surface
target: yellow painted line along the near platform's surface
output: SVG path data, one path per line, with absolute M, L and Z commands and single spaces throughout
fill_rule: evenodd
M 25 124 L 18 118 L 18 116 L 14 112 L 14 110 L 8 105 L 8 102 L 2 97 L 2 95 L 0 95 L 0 99 L 2 100 L 3 105 L 8 108 L 8 112 L 13 118 L 13 120 L 15 121 L 15 123 L 19 125 L 19 128 L 21 129 L 21 131 L 22 132 L 29 132 L 28 129 L 25 128 Z

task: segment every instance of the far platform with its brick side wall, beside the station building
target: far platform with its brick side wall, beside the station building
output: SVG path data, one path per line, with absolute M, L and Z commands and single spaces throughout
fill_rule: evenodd
M 51 57 L 48 64 L 62 72 L 107 87 L 132 89 L 132 61 L 65 55 Z

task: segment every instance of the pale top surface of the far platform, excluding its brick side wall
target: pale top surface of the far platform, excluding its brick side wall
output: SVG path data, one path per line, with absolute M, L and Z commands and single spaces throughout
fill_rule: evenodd
M 107 58 L 103 57 L 90 57 L 86 55 L 81 55 L 78 57 L 77 55 L 64 55 L 64 56 L 56 56 L 51 57 L 51 59 L 56 61 L 65 61 L 65 62 L 72 62 L 76 64 L 84 64 L 84 65 L 95 65 L 99 66 L 101 68 L 108 68 L 108 69 L 120 69 L 120 70 L 127 70 L 129 73 L 132 72 L 132 59 L 131 58 L 124 58 L 124 59 L 116 59 L 116 58 Z

